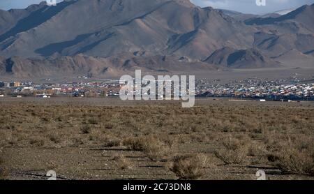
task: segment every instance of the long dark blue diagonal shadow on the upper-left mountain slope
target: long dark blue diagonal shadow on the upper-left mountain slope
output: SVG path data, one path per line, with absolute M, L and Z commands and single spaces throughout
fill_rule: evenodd
M 61 10 L 72 3 L 75 3 L 75 1 L 63 1 L 58 3 L 57 6 L 44 6 L 43 8 L 36 10 L 28 17 L 25 17 L 24 19 L 17 22 L 15 27 L 10 29 L 8 32 L 3 33 L 3 35 L 0 36 L 0 42 L 6 40 L 6 38 L 9 38 L 10 36 L 15 36 L 17 33 L 22 31 L 27 31 L 33 27 L 38 27 L 38 25 L 43 24 L 54 15 L 57 15 L 59 12 L 61 12 Z

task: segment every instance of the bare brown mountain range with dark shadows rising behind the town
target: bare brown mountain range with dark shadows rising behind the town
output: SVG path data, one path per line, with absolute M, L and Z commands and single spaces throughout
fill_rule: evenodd
M 281 16 L 239 14 L 188 0 L 72 0 L 0 10 L 0 76 L 269 68 L 283 66 L 292 50 L 313 57 L 314 4 Z

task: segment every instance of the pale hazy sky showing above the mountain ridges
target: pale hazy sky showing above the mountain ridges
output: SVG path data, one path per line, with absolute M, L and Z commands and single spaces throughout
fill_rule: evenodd
M 0 0 L 0 9 L 25 8 L 33 3 L 43 0 Z M 61 0 L 58 0 L 61 1 Z M 132 1 L 132 0 L 130 0 Z M 147 0 L 149 1 L 149 0 Z M 237 10 L 242 13 L 263 14 L 271 13 L 276 10 L 297 8 L 304 4 L 312 4 L 314 0 L 264 0 L 266 6 L 257 6 L 256 0 L 190 0 L 197 6 L 212 6 L 214 8 L 224 8 Z

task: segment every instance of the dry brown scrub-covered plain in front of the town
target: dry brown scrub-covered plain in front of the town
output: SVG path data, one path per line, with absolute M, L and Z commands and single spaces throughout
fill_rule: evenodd
M 0 179 L 314 179 L 314 103 L 0 99 Z

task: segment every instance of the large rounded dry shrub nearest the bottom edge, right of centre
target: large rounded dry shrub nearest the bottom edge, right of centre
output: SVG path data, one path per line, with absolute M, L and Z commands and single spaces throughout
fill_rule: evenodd
M 200 179 L 204 176 L 204 167 L 207 164 L 207 156 L 203 154 L 190 154 L 175 156 L 170 163 L 170 170 L 179 179 Z

